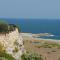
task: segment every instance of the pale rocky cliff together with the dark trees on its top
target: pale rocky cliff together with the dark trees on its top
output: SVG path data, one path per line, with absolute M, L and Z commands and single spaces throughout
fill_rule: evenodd
M 16 60 L 25 53 L 23 38 L 16 25 L 0 25 L 0 43 L 4 46 L 3 50 Z

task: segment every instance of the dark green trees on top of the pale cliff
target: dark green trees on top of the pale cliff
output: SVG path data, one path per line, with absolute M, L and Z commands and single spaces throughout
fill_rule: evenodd
M 0 21 L 0 33 L 7 33 L 9 31 L 14 31 L 15 28 L 18 28 L 20 32 L 20 28 L 15 24 L 8 24 L 6 21 Z

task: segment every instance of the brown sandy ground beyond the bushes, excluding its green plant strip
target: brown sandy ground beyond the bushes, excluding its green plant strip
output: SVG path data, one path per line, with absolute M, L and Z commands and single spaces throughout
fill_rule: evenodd
M 60 58 L 60 48 L 58 46 L 55 47 L 40 47 L 40 45 L 44 43 L 50 44 L 60 44 L 60 41 L 55 40 L 46 40 L 46 39 L 37 39 L 31 37 L 23 37 L 24 38 L 24 46 L 26 51 L 31 53 L 37 53 L 42 55 L 44 60 L 59 60 Z M 40 43 L 40 44 L 33 44 L 33 43 Z M 60 46 L 59 46 L 60 47 Z

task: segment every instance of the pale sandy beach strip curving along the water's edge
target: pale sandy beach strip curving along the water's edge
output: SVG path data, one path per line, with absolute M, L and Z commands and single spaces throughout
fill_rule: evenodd
M 44 38 L 33 37 L 34 34 L 32 34 L 32 33 L 21 33 L 21 35 L 23 36 L 24 40 L 40 40 L 40 41 L 48 41 L 48 42 L 58 42 L 58 43 L 60 43 L 60 40 L 57 40 L 57 39 L 44 39 Z

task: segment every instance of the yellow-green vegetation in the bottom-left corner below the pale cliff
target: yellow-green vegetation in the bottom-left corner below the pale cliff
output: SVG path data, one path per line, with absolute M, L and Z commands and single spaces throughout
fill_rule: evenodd
M 4 45 L 2 45 L 2 43 L 0 43 L 0 60 L 15 60 L 11 55 L 7 54 L 5 51 L 5 47 Z

